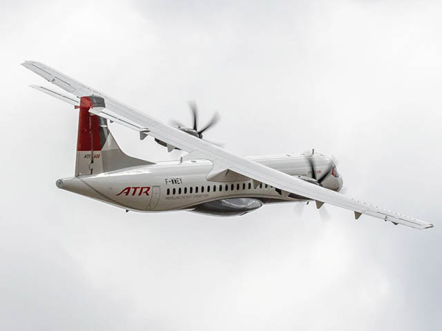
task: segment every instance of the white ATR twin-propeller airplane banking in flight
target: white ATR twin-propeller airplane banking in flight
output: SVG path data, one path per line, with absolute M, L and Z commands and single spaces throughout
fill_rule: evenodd
M 137 212 L 185 210 L 214 216 L 238 216 L 267 203 L 325 203 L 411 228 L 432 228 L 404 214 L 340 192 L 343 177 L 326 155 L 304 154 L 240 157 L 202 139 L 196 105 L 193 128 L 172 126 L 126 106 L 43 63 L 22 66 L 68 92 L 31 86 L 79 110 L 75 175 L 58 179 L 58 188 Z M 186 152 L 175 161 L 153 163 L 125 154 L 109 130 L 118 123 L 153 137 L 169 152 Z M 214 117 L 208 126 L 218 121 Z

